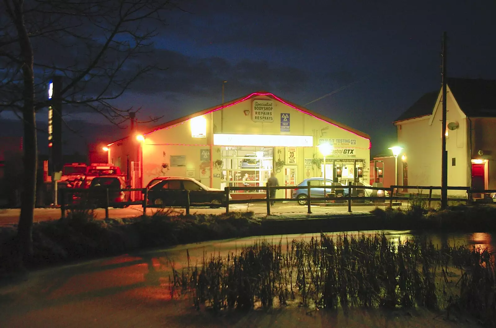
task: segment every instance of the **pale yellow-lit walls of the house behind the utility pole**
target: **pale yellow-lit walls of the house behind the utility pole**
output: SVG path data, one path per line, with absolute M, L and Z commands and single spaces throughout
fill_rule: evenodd
M 448 131 L 448 138 L 446 139 L 448 186 L 469 186 L 471 164 L 467 141 L 467 119 L 449 90 L 447 100 L 447 122 L 458 122 L 459 124 L 457 130 Z M 436 106 L 434 118 L 430 115 L 396 124 L 398 145 L 404 147 L 403 154 L 407 157 L 408 185 L 410 186 L 441 185 L 442 102 L 437 102 Z M 452 166 L 452 158 L 455 158 L 455 166 Z M 402 163 L 401 160 L 398 160 L 398 184 L 402 185 L 402 182 Z M 417 190 L 409 190 L 409 192 L 416 193 Z M 424 193 L 428 192 L 425 191 Z M 433 193 L 440 194 L 440 191 L 433 191 Z M 465 194 L 465 192 L 448 191 L 448 195 Z

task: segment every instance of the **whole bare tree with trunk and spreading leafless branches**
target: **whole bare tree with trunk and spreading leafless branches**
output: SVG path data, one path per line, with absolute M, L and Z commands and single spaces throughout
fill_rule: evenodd
M 20 259 L 33 252 L 38 161 L 36 112 L 46 86 L 62 75 L 62 104 L 84 107 L 115 124 L 129 109 L 111 105 L 153 64 L 153 39 L 173 0 L 0 0 L 0 111 L 24 127 L 24 179 L 18 225 Z M 5 14 L 4 14 L 5 13 Z M 145 64 L 143 64 L 145 63 Z M 156 118 L 150 118 L 154 120 Z

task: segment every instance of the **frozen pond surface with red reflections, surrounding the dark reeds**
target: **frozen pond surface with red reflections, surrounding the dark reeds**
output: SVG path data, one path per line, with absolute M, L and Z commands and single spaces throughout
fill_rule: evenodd
M 389 238 L 398 238 L 390 232 Z M 290 235 L 309 239 L 310 234 Z M 406 237 L 406 236 L 405 236 Z M 226 255 L 256 238 L 189 244 L 169 249 L 136 252 L 114 258 L 52 267 L 30 273 L 26 281 L 0 284 L 1 328 L 175 328 L 175 327 L 473 327 L 473 322 L 452 323 L 443 315 L 422 310 L 385 313 L 352 310 L 349 316 L 332 311 L 310 314 L 303 308 L 268 313 L 251 311 L 215 316 L 196 311 L 187 298 L 171 300 L 171 263 L 199 262 L 203 252 Z M 285 246 L 286 236 L 270 236 Z M 468 237 L 467 237 L 468 238 Z M 0 281 L 1 283 L 1 281 Z

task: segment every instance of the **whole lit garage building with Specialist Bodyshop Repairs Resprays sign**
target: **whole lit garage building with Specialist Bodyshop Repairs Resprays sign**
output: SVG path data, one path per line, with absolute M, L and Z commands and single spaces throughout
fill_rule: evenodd
M 183 176 L 206 186 L 265 186 L 274 171 L 282 186 L 323 176 L 318 144 L 333 145 L 326 177 L 340 167 L 342 177 L 369 182 L 370 137 L 269 92 L 254 92 L 155 127 L 131 131 L 107 145 L 109 162 L 127 172 L 133 188 L 157 176 Z M 233 198 L 263 197 L 233 193 Z M 139 197 L 139 196 L 135 196 Z M 291 197 L 278 191 L 276 197 Z

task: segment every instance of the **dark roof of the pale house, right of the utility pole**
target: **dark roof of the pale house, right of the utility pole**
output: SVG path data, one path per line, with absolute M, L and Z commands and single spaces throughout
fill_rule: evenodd
M 448 78 L 448 86 L 468 117 L 496 117 L 496 80 Z

